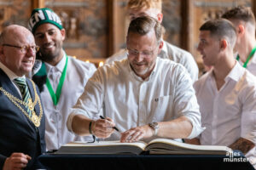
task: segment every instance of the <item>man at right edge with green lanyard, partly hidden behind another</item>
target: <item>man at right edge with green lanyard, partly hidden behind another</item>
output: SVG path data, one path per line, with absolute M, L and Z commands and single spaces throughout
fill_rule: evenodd
M 236 59 L 256 76 L 255 17 L 252 9 L 243 6 L 232 8 L 222 18 L 230 20 L 236 26 Z

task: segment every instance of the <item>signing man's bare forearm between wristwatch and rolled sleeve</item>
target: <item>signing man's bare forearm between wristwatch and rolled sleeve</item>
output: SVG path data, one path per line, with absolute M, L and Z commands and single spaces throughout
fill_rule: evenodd
M 180 116 L 170 122 L 160 122 L 158 136 L 161 138 L 184 139 L 192 131 L 192 124 L 186 116 Z

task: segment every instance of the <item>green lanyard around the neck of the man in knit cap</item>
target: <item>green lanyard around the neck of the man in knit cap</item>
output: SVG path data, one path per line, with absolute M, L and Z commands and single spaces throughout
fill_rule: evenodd
M 60 96 L 61 96 L 61 89 L 62 89 L 63 83 L 64 83 L 66 75 L 67 75 L 67 60 L 68 60 L 68 57 L 67 57 L 67 54 L 66 54 L 66 64 L 65 64 L 65 67 L 64 67 L 64 69 L 61 73 L 61 78 L 60 78 L 60 82 L 58 84 L 58 87 L 56 89 L 56 93 L 54 92 L 54 90 L 53 90 L 53 88 L 52 88 L 52 86 L 49 82 L 49 78 L 48 77 L 46 78 L 46 86 L 49 90 L 49 94 L 50 94 L 50 97 L 51 97 L 54 105 L 58 104 Z M 38 71 L 38 73 L 36 75 L 38 75 L 38 76 L 47 75 L 46 67 L 45 67 L 44 62 L 42 63 L 41 69 Z

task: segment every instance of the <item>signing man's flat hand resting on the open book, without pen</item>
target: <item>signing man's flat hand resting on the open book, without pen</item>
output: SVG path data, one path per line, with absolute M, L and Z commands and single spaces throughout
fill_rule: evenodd
M 142 127 L 133 127 L 122 133 L 120 142 L 135 142 L 140 139 L 150 138 L 154 135 L 153 128 L 148 125 Z

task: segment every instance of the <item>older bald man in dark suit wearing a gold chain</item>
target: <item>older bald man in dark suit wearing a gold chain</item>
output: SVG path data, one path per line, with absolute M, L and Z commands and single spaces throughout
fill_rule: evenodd
M 32 71 L 38 46 L 23 26 L 7 26 L 0 36 L 0 169 L 42 168 L 44 110 Z

